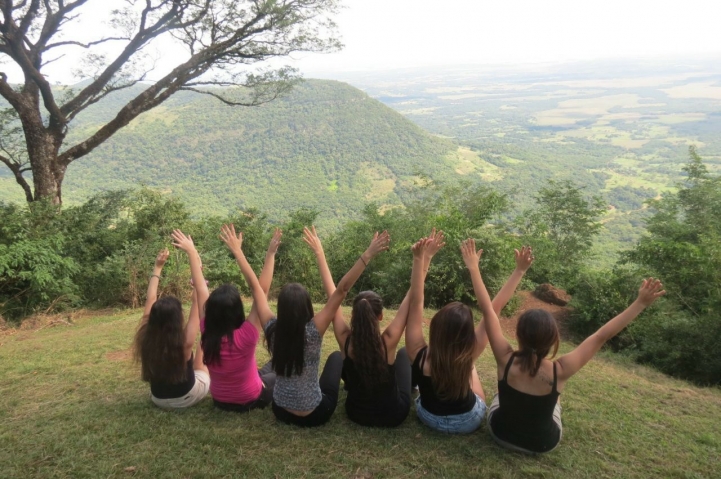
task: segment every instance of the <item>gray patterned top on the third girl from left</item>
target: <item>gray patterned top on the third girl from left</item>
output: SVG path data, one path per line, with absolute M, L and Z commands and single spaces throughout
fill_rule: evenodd
M 277 319 L 272 319 L 268 327 Z M 318 385 L 318 367 L 320 366 L 320 348 L 323 338 L 313 320 L 305 325 L 305 349 L 303 350 L 303 373 L 290 377 L 278 375 L 275 379 L 273 401 L 285 409 L 312 411 L 320 404 L 323 396 Z

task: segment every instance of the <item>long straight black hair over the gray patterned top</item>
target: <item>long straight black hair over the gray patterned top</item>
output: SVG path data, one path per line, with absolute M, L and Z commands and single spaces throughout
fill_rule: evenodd
M 278 294 L 278 319 L 265 332 L 277 375 L 288 377 L 303 373 L 305 326 L 313 316 L 308 291 L 298 283 L 283 286 Z

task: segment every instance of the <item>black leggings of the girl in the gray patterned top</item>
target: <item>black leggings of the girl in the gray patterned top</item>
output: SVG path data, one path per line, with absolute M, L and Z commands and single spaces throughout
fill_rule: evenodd
M 340 389 L 342 372 L 343 357 L 340 355 L 340 351 L 336 351 L 328 356 L 325 367 L 323 367 L 323 373 L 318 380 L 323 397 L 313 412 L 307 416 L 296 416 L 273 402 L 275 417 L 286 424 L 295 424 L 300 427 L 316 427 L 327 423 L 338 404 L 338 390 Z

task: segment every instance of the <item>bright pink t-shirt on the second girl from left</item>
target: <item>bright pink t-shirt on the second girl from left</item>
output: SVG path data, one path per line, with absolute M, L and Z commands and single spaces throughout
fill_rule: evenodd
M 205 318 L 200 321 L 205 331 Z M 247 404 L 260 397 L 263 381 L 255 362 L 255 346 L 260 334 L 245 321 L 233 332 L 233 342 L 224 337 L 220 343 L 220 364 L 209 364 L 210 394 L 213 399 L 232 404 Z

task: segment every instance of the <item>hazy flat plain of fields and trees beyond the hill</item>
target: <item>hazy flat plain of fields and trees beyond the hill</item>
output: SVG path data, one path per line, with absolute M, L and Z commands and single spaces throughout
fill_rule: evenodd
M 518 211 L 548 179 L 608 202 L 602 262 L 644 231 L 643 202 L 674 190 L 694 145 L 721 172 L 718 59 L 458 66 L 341 79 L 476 153 L 474 174 Z M 466 168 L 468 171 L 468 168 Z

